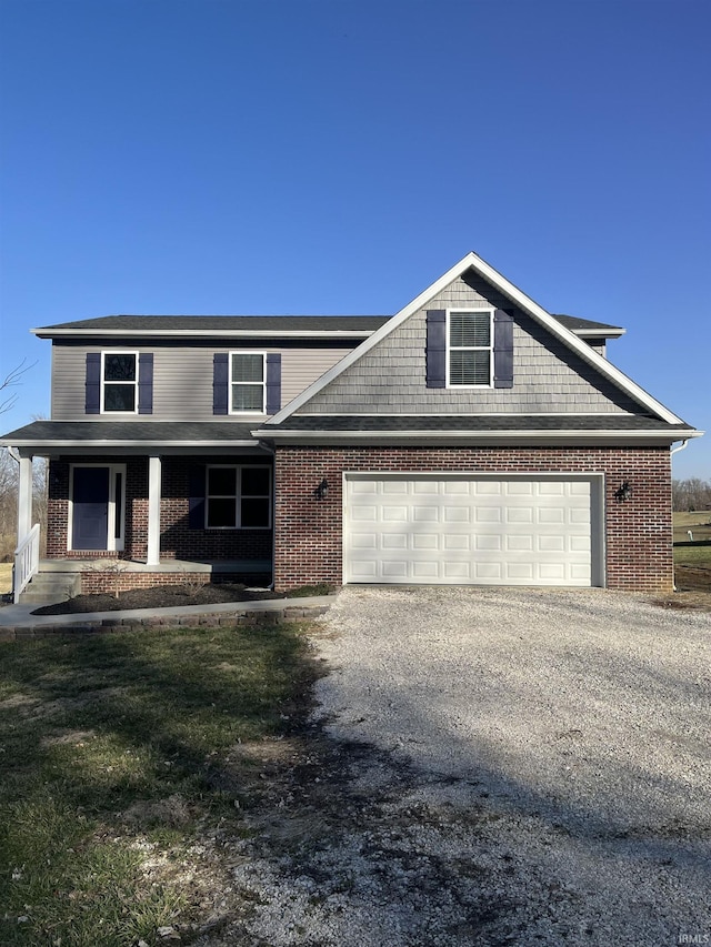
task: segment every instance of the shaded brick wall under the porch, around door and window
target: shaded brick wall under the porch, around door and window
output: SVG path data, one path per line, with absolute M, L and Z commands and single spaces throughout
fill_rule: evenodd
M 248 459 L 211 457 L 210 463 L 246 463 Z M 264 455 L 254 457 L 264 463 Z M 52 460 L 49 470 L 47 527 L 48 558 L 116 558 L 116 553 L 67 550 L 69 470 L 71 464 L 126 464 L 124 558 L 146 558 L 148 552 L 148 459 L 83 456 Z M 190 471 L 204 466 L 204 457 L 166 457 L 161 477 L 161 558 L 270 560 L 271 530 L 191 530 L 189 522 Z

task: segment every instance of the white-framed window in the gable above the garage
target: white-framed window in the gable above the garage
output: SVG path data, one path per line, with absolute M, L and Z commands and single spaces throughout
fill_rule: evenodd
M 493 310 L 447 313 L 447 386 L 492 384 Z

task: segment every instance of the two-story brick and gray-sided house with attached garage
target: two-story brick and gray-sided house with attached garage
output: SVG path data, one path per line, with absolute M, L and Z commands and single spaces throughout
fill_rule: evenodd
M 52 341 L 47 556 L 123 587 L 673 584 L 671 450 L 695 431 L 473 253 L 395 315 L 104 316 Z M 27 543 L 26 543 L 27 546 Z M 18 567 L 19 568 L 19 567 Z M 27 570 L 24 570 L 27 573 Z

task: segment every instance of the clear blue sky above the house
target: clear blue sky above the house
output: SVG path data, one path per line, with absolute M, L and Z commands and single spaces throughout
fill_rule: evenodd
M 474 250 L 711 432 L 708 0 L 0 0 L 0 419 L 113 313 L 389 314 Z M 711 478 L 711 433 L 674 460 Z

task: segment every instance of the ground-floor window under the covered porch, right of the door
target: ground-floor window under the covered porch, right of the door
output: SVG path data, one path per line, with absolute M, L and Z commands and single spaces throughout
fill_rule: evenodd
M 271 526 L 271 471 L 258 466 L 209 466 L 206 525 L 209 530 Z

